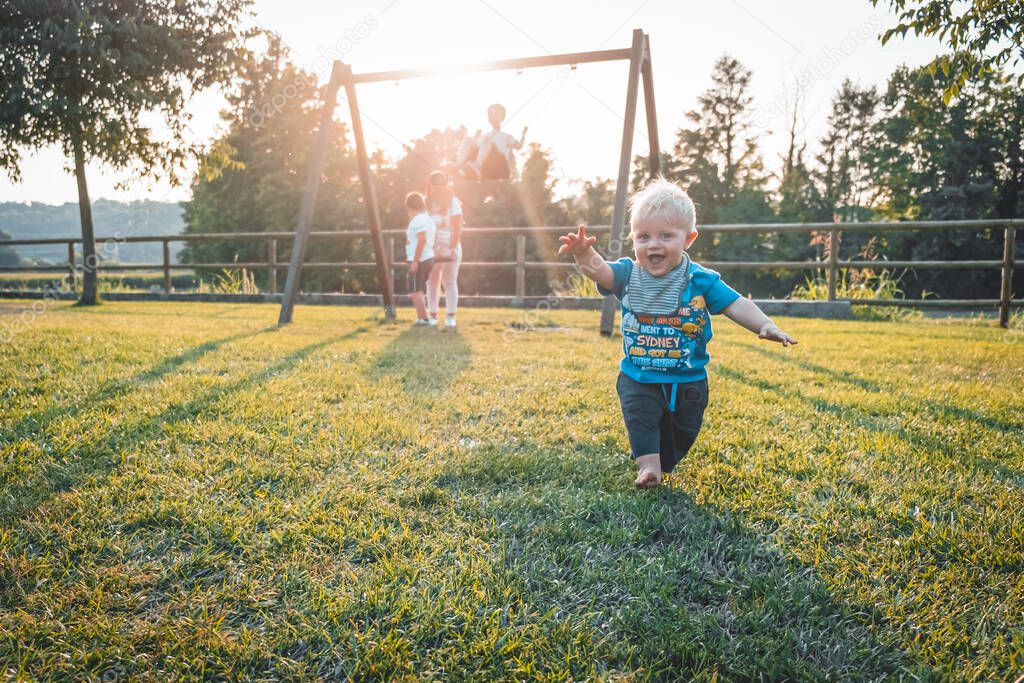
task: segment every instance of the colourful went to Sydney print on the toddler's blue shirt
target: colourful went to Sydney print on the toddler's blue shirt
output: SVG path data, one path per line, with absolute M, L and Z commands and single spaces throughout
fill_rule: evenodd
M 690 358 L 711 337 L 711 321 L 705 298 L 688 293 L 689 288 L 680 297 L 676 315 L 623 313 L 623 351 L 633 365 L 668 372 L 692 368 Z M 629 307 L 629 294 L 623 304 Z

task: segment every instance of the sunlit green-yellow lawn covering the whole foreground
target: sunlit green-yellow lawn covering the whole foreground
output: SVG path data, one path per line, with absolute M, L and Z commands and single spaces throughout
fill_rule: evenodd
M 10 678 L 1024 673 L 1024 334 L 716 318 L 705 431 L 638 493 L 593 312 L 28 305 Z

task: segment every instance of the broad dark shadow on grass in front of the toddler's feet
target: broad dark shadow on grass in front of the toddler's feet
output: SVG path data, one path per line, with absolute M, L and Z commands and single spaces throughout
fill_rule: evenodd
M 492 520 L 487 541 L 526 602 L 587 624 L 603 669 L 580 677 L 921 673 L 908 653 L 880 641 L 872 631 L 880 615 L 836 602 L 812 567 L 794 565 L 728 510 L 669 486 L 634 490 L 629 468 L 625 458 L 613 463 L 586 447 L 552 457 L 531 444 L 481 449 L 433 482 L 457 509 L 472 501 L 462 514 Z

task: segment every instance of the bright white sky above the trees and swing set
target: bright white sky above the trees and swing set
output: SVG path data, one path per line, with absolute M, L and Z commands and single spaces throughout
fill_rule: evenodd
M 926 63 L 939 51 L 932 39 L 882 46 L 878 36 L 893 16 L 885 2 L 869 0 L 256 0 L 251 20 L 279 33 L 296 63 L 322 82 L 333 59 L 362 73 L 625 48 L 639 28 L 650 36 L 662 150 L 671 150 L 686 112 L 710 86 L 715 61 L 729 54 L 753 71 L 753 120 L 769 169 L 785 151 L 795 103 L 798 135 L 813 152 L 844 78 L 883 87 L 897 66 Z M 575 190 L 578 179 L 615 176 L 627 75 L 626 61 L 488 72 L 368 83 L 358 97 L 368 144 L 392 157 L 431 128 L 486 128 L 487 104 L 501 102 L 509 113 L 505 130 L 518 135 L 526 126 L 527 143 L 551 152 L 562 195 Z M 190 101 L 193 140 L 223 133 L 222 103 L 218 92 Z M 343 97 L 338 104 L 336 117 L 347 121 Z M 648 144 L 641 103 L 634 155 L 647 154 Z M 57 147 L 23 152 L 23 180 L 0 174 L 0 202 L 77 202 L 68 166 Z M 184 184 L 171 187 L 97 163 L 87 170 L 93 200 L 187 200 L 190 176 L 189 169 Z

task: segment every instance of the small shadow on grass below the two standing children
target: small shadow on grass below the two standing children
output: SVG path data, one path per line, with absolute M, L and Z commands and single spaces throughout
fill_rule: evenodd
M 411 327 L 392 339 L 367 367 L 368 379 L 400 381 L 414 396 L 438 393 L 469 366 L 472 351 L 458 331 Z

